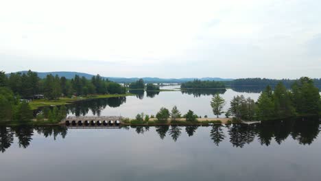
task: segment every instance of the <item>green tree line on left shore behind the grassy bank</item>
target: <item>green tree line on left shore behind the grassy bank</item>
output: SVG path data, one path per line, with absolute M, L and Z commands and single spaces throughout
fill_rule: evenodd
M 40 79 L 37 73 L 10 73 L 6 76 L 0 72 L 0 86 L 7 86 L 14 94 L 23 98 L 33 98 L 34 95 L 42 94 L 47 99 L 57 99 L 62 96 L 90 95 L 90 94 L 123 94 L 126 88 L 100 75 L 93 76 L 91 80 L 86 77 L 75 75 L 71 80 L 58 75 L 47 75 Z

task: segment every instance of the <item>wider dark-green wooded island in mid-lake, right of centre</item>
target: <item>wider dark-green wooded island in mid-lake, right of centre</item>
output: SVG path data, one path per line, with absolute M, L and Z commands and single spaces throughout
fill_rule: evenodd
M 193 80 L 180 85 L 180 88 L 225 88 L 224 82 Z

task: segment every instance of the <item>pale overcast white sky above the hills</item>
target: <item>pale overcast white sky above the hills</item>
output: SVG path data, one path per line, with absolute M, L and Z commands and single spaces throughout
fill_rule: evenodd
M 0 0 L 0 71 L 321 77 L 321 1 Z

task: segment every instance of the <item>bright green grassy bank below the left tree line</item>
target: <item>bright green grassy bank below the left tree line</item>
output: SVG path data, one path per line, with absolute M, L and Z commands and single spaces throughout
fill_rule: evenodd
M 32 108 L 32 110 L 36 110 L 40 107 L 45 106 L 62 106 L 66 104 L 72 104 L 75 101 L 84 101 L 89 99 L 104 99 L 104 98 L 110 98 L 110 97 L 126 97 L 131 96 L 134 94 L 121 94 L 121 95 L 90 95 L 87 97 L 75 97 L 75 98 L 69 98 L 69 97 L 60 97 L 56 100 L 48 100 L 48 99 L 35 99 L 34 101 L 30 102 L 29 105 Z

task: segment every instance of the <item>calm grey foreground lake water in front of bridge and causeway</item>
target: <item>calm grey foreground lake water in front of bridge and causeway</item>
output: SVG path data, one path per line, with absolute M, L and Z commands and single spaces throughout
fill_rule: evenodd
M 0 127 L 0 180 L 320 180 L 318 118 L 258 125 Z

